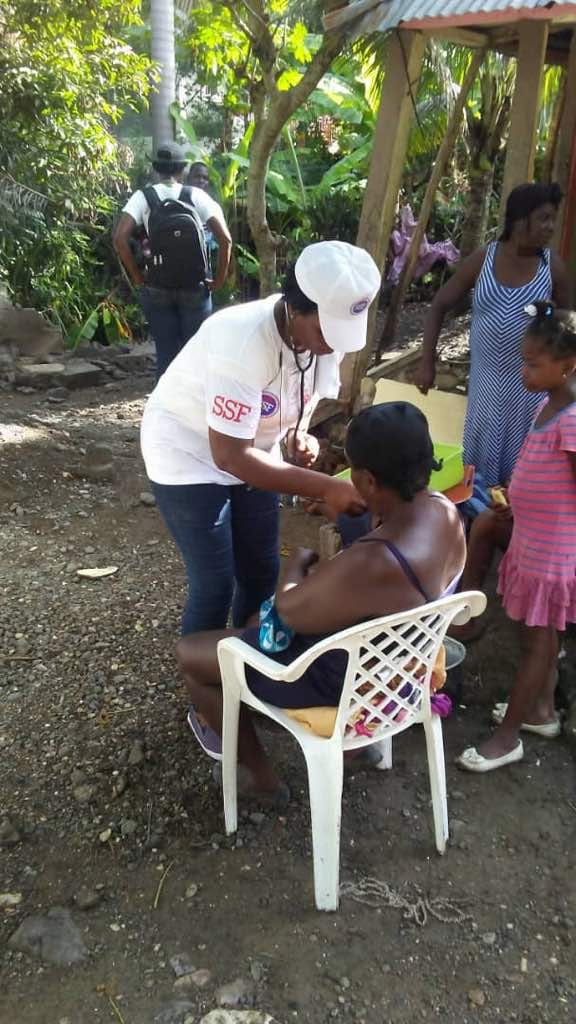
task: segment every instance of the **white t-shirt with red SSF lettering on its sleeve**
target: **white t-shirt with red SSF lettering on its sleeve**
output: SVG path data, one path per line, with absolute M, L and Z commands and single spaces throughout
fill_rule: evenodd
M 151 480 L 164 484 L 240 483 L 215 465 L 208 429 L 254 439 L 281 459 L 280 441 L 298 421 L 302 375 L 274 317 L 278 295 L 229 306 L 204 322 L 160 378 L 141 425 Z M 335 397 L 339 358 L 298 356 L 305 426 L 318 400 Z

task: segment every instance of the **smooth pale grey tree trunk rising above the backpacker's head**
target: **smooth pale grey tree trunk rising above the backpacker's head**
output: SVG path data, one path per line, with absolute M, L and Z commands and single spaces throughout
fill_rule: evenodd
M 160 80 L 151 93 L 153 148 L 173 139 L 174 122 L 170 106 L 176 98 L 174 60 L 173 0 L 151 0 L 150 23 L 152 59 L 158 66 Z

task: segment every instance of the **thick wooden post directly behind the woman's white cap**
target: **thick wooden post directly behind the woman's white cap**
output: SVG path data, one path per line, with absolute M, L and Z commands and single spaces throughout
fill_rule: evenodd
M 358 245 L 374 257 L 380 270 L 383 270 L 394 226 L 425 47 L 425 37 L 416 32 L 395 32 L 388 41 L 386 77 L 357 239 Z M 346 402 L 354 400 L 370 361 L 376 311 L 374 302 L 366 348 L 346 356 L 342 365 L 341 396 Z

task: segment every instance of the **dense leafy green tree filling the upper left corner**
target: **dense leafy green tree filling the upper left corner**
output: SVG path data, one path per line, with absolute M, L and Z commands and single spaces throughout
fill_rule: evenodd
M 65 331 L 110 291 L 105 244 L 126 153 L 112 129 L 151 65 L 126 35 L 137 0 L 4 0 L 0 17 L 0 275 Z

